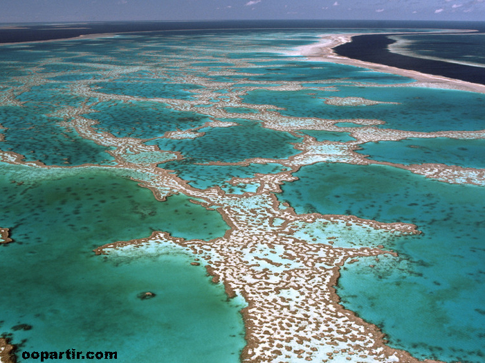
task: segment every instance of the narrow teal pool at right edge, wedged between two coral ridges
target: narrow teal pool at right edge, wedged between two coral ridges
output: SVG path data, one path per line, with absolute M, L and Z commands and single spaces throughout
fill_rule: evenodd
M 406 139 L 365 143 L 360 154 L 392 163 L 444 163 L 464 168 L 485 168 L 485 139 Z

